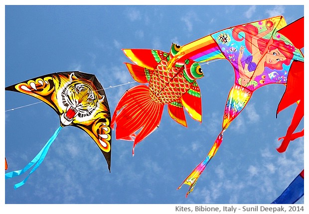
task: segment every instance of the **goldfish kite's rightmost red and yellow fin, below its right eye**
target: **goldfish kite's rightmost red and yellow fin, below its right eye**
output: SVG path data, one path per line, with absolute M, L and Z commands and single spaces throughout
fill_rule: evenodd
M 194 82 L 192 87 L 181 97 L 181 103 L 193 119 L 202 122 L 201 93 L 196 82 Z

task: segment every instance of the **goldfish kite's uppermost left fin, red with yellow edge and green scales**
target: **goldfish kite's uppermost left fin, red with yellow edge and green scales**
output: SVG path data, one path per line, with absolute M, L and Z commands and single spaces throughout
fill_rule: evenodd
M 163 51 L 151 49 L 123 49 L 125 55 L 136 65 L 154 70 L 158 62 L 168 55 Z

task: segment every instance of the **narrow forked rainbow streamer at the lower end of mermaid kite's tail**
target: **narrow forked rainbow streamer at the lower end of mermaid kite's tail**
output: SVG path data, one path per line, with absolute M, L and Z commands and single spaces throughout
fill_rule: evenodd
M 206 168 L 206 166 L 209 163 L 209 161 L 211 160 L 211 158 L 216 154 L 219 146 L 222 143 L 224 130 L 225 129 L 223 129 L 221 131 L 221 133 L 218 135 L 215 143 L 211 147 L 211 149 L 208 152 L 208 155 L 205 157 L 205 159 L 199 165 L 197 165 L 197 167 L 195 167 L 195 169 L 191 172 L 191 174 L 177 188 L 179 190 L 183 184 L 186 184 L 186 185 L 190 186 L 188 191 L 187 191 L 187 193 L 186 193 L 186 195 L 185 195 L 186 198 L 188 197 L 189 193 L 191 193 L 193 191 L 194 186 L 195 186 L 195 184 L 197 182 L 197 179 L 202 174 L 202 172 Z

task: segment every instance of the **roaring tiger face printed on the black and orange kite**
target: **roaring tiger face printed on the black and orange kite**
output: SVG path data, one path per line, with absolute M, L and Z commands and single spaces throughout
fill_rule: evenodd
M 64 111 L 60 115 L 62 125 L 74 122 L 83 122 L 93 118 L 100 107 L 104 96 L 100 96 L 93 84 L 86 79 L 77 79 L 74 73 L 70 75 L 69 84 L 65 85 L 58 96 L 58 104 Z

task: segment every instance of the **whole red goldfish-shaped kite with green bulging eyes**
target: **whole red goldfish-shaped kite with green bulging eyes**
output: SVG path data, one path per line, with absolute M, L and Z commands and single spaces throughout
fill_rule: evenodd
M 127 90 L 112 117 L 112 129 L 117 124 L 116 139 L 134 140 L 133 155 L 135 146 L 158 127 L 165 104 L 171 118 L 185 127 L 183 107 L 193 119 L 202 120 L 201 95 L 196 79 L 204 75 L 200 65 L 193 60 L 174 59 L 180 49 L 181 46 L 174 43 L 169 53 L 123 49 L 134 62 L 125 63 L 132 77 L 139 83 L 149 83 Z

